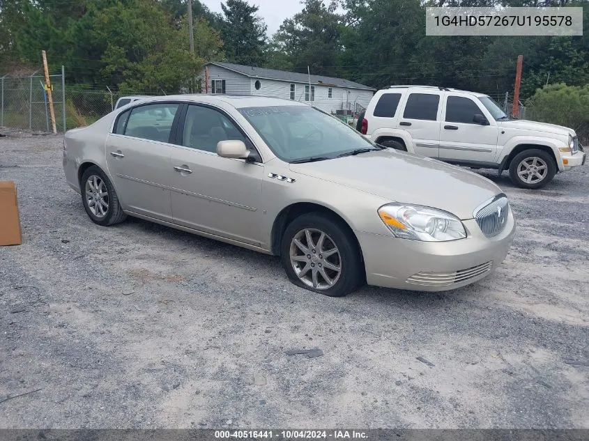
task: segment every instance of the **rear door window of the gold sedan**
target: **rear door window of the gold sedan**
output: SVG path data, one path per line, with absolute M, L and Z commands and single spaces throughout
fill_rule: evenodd
M 133 107 L 125 135 L 151 141 L 169 142 L 171 124 L 179 104 L 158 103 Z M 117 124 L 118 125 L 118 124 Z

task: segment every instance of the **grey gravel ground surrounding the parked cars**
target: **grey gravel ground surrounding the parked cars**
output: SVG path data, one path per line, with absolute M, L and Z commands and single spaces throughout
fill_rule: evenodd
M 535 192 L 483 172 L 519 226 L 494 277 L 337 299 L 272 256 L 96 226 L 62 137 L 8 135 L 24 243 L 0 247 L 1 428 L 589 428 L 587 166 Z

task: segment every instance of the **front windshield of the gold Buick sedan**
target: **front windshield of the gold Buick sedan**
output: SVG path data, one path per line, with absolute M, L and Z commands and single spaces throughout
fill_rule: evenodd
M 346 123 L 314 107 L 243 107 L 238 111 L 286 162 L 329 160 L 378 149 Z

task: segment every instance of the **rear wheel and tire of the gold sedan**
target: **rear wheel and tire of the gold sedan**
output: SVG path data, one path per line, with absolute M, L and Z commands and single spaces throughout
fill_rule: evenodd
M 118 196 L 112 183 L 99 167 L 95 165 L 88 167 L 82 173 L 79 187 L 82 193 L 84 210 L 95 224 L 102 226 L 114 225 L 123 222 L 127 218 L 121 204 L 118 202 Z M 98 189 L 98 191 L 95 191 L 95 189 Z M 106 189 L 106 192 L 100 191 L 104 189 Z M 102 203 L 99 203 L 100 201 Z

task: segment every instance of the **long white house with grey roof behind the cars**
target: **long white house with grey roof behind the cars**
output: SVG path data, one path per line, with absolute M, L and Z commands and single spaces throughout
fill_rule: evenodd
M 204 81 L 207 79 L 206 81 Z M 215 61 L 201 74 L 202 93 L 259 95 L 307 102 L 331 114 L 364 110 L 376 89 L 347 79 Z

